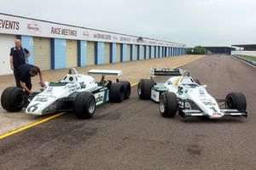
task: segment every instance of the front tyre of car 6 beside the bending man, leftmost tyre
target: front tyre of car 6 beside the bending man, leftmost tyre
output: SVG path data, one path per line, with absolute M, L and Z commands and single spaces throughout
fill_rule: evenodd
M 25 105 L 25 93 L 22 88 L 9 87 L 3 91 L 1 105 L 9 112 L 21 111 Z

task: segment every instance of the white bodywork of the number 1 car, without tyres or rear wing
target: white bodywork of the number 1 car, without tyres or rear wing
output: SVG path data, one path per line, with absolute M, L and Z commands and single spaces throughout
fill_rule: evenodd
M 186 107 L 190 108 L 192 116 L 203 116 L 203 114 L 207 114 L 210 118 L 220 118 L 224 116 L 218 107 L 218 103 L 215 99 L 212 98 L 210 94 L 207 93 L 205 88 L 206 86 L 201 86 L 193 80 L 192 77 L 171 77 L 165 83 L 157 83 L 154 88 L 166 88 L 169 92 L 175 93 L 177 95 L 177 99 L 189 99 L 197 105 L 201 111 L 191 110 L 191 106 L 189 103 L 186 104 Z M 151 90 L 151 99 L 159 102 L 160 92 L 159 90 Z M 202 113 L 203 112 L 203 113 Z

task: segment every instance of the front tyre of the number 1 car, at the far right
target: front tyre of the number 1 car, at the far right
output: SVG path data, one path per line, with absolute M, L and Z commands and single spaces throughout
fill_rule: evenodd
M 241 92 L 231 92 L 226 96 L 226 107 L 238 111 L 247 110 L 247 99 Z

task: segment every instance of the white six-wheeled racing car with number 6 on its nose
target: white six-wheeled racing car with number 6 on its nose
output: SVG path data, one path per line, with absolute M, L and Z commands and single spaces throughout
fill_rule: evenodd
M 119 81 L 122 71 L 90 70 L 88 74 L 102 75 L 102 79 L 96 82 L 93 77 L 70 69 L 61 81 L 48 82 L 30 96 L 26 96 L 21 88 L 6 88 L 1 96 L 1 104 L 4 110 L 11 112 L 26 107 L 26 113 L 30 115 L 73 111 L 78 118 L 90 118 L 97 106 L 130 98 L 130 82 Z M 116 82 L 106 81 L 106 75 L 116 76 Z

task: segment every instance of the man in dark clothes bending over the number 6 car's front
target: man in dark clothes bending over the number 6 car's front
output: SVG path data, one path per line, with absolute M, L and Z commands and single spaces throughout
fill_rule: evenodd
M 31 77 L 35 77 L 39 73 L 40 84 L 44 86 L 43 73 L 36 65 L 20 65 L 17 70 L 17 79 L 19 81 L 18 87 L 23 88 L 26 94 L 32 94 L 32 82 Z

